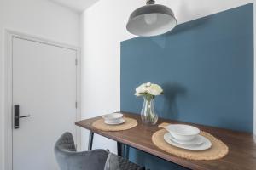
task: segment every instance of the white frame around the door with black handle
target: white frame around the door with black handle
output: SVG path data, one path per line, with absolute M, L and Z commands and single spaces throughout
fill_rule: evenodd
M 4 169 L 13 170 L 13 38 L 20 38 L 24 40 L 29 40 L 32 42 L 40 42 L 47 45 L 67 48 L 76 51 L 77 54 L 77 113 L 76 120 L 81 119 L 81 50 L 79 47 L 68 45 L 61 42 L 55 42 L 46 38 L 32 36 L 26 33 L 21 33 L 19 31 L 12 31 L 9 29 L 4 30 L 4 105 L 3 105 L 3 156 L 4 156 Z M 74 61 L 75 62 L 75 61 Z M 75 63 L 74 63 L 75 64 Z M 61 134 L 60 134 L 61 135 Z M 81 129 L 76 127 L 76 139 L 77 148 L 81 149 Z

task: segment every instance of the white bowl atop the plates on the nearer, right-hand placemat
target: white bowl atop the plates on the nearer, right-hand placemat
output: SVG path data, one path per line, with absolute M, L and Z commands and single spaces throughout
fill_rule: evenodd
M 166 130 L 171 133 L 173 138 L 181 141 L 195 139 L 195 136 L 200 133 L 200 130 L 197 127 L 183 124 L 169 125 L 166 127 Z

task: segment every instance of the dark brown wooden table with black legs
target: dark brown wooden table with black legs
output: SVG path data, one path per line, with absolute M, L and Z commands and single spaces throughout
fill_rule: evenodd
M 223 159 L 216 161 L 190 161 L 177 156 L 172 156 L 163 150 L 157 148 L 151 140 L 151 136 L 160 127 L 157 125 L 162 122 L 180 123 L 177 121 L 159 119 L 156 126 L 146 126 L 141 122 L 140 116 L 137 114 L 131 114 L 122 112 L 126 117 L 137 119 L 137 127 L 131 128 L 126 131 L 119 132 L 104 132 L 92 127 L 92 123 L 101 116 L 87 119 L 84 121 L 76 122 L 79 127 L 90 130 L 90 144 L 91 149 L 93 133 L 102 135 L 108 139 L 113 139 L 118 143 L 119 155 L 122 154 L 121 144 L 134 147 L 138 150 L 143 150 L 154 156 L 158 156 L 166 161 L 172 161 L 177 165 L 187 167 L 189 169 L 196 170 L 256 170 L 256 143 L 253 139 L 253 135 L 249 133 L 241 133 L 217 127 L 207 127 L 202 125 L 190 124 L 195 127 L 199 127 L 201 130 L 211 133 L 218 139 L 221 139 L 225 144 L 229 146 L 230 152 Z M 183 122 L 182 122 L 183 123 Z

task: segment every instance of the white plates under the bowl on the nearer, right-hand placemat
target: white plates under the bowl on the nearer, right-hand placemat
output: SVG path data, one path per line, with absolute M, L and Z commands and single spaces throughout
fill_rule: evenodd
M 198 145 L 184 145 L 184 144 L 177 144 L 176 142 L 172 141 L 172 139 L 170 139 L 170 133 L 166 133 L 164 135 L 164 139 L 166 140 L 166 142 L 168 144 L 171 144 L 173 146 L 176 146 L 177 148 L 182 148 L 185 150 L 207 150 L 209 148 L 211 148 L 212 143 L 209 139 L 202 137 L 203 139 L 203 143 L 202 144 L 198 144 Z

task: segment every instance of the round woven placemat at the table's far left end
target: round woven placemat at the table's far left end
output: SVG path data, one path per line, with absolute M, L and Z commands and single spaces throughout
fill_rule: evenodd
M 125 122 L 119 125 L 108 125 L 106 123 L 104 123 L 104 119 L 101 118 L 99 120 L 97 120 L 96 122 L 92 123 L 93 127 L 96 127 L 99 130 L 102 131 L 122 131 L 122 130 L 128 130 L 132 127 L 136 127 L 137 126 L 137 120 L 136 119 L 132 119 L 132 118 L 128 118 L 128 117 L 124 117 Z

